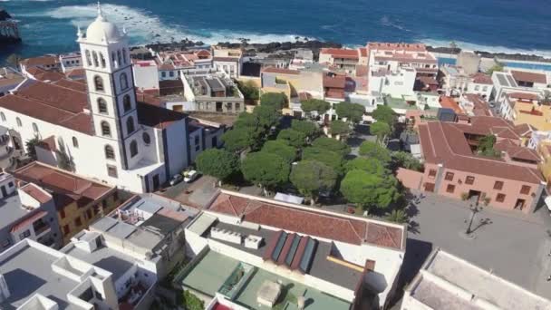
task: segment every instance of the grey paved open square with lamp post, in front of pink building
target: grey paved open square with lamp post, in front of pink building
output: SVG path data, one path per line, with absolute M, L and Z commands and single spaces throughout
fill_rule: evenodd
M 411 224 L 401 282 L 408 284 L 430 251 L 440 247 L 491 270 L 519 286 L 551 299 L 551 217 L 546 207 L 536 213 L 498 211 L 484 207 L 476 215 L 474 238 L 465 237 L 470 218 L 466 202 L 427 196 L 408 207 Z M 482 219 L 490 224 L 480 226 Z

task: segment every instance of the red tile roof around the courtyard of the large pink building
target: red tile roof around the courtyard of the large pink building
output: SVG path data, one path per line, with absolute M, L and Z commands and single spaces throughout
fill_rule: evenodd
M 470 150 L 465 133 L 486 135 L 492 133 L 494 124 L 504 122 L 507 123 L 495 117 L 478 116 L 471 118 L 471 124 L 443 121 L 428 121 L 420 124 L 420 144 L 423 157 L 426 162 L 442 164 L 451 170 L 539 184 L 543 178 L 536 169 L 508 164 L 500 159 L 480 157 L 474 155 Z M 513 131 L 511 130 L 511 132 Z

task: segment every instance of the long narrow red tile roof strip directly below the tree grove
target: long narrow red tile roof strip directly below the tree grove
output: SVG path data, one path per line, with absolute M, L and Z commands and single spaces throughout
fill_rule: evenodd
M 210 211 L 239 217 L 243 221 L 280 228 L 314 237 L 361 245 L 403 249 L 404 231 L 382 223 L 343 217 L 303 208 L 291 208 L 258 199 L 221 192 L 208 208 Z

